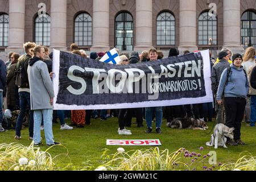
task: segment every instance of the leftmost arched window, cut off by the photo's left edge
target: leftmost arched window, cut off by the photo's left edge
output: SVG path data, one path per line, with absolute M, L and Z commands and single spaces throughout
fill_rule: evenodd
M 0 46 L 8 46 L 9 38 L 9 15 L 0 15 Z

